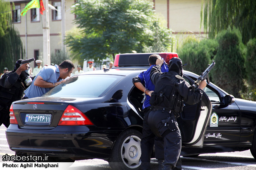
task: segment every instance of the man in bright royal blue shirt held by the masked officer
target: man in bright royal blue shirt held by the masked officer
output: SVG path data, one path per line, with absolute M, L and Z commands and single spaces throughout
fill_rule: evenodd
M 151 105 L 149 104 L 149 100 L 151 97 L 151 93 L 154 92 L 155 86 L 150 80 L 150 70 L 153 66 L 156 65 L 156 60 L 161 59 L 161 56 L 158 54 L 152 54 L 149 56 L 149 69 L 146 71 L 143 71 L 140 73 L 137 77 L 133 78 L 133 84 L 140 89 L 142 92 L 145 93 L 146 99 L 143 103 L 143 111 L 144 111 L 144 119 L 143 119 L 143 130 L 142 130 L 142 139 L 140 142 L 140 147 L 142 151 L 141 155 L 141 169 L 142 170 L 149 170 L 150 169 L 150 158 L 153 151 L 153 146 L 155 143 L 155 157 L 158 159 L 159 166 L 163 166 L 164 161 L 164 150 L 163 150 L 163 144 L 161 144 L 163 141 L 160 138 L 155 139 L 155 135 L 152 133 L 152 131 L 149 128 L 147 119 L 149 116 L 149 112 L 151 109 Z M 168 72 L 168 66 L 163 65 L 161 67 L 161 71 Z M 144 85 L 145 87 L 144 87 Z

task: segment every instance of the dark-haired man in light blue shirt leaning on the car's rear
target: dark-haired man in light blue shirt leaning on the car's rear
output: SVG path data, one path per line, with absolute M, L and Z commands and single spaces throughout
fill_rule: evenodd
M 59 66 L 44 66 L 25 90 L 23 99 L 42 96 L 56 85 L 64 82 L 64 79 L 71 75 L 74 68 L 74 64 L 68 59 Z

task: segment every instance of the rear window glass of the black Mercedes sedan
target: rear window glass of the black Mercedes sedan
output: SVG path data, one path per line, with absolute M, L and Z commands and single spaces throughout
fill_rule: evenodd
M 118 75 L 73 76 L 42 97 L 102 97 L 122 78 Z

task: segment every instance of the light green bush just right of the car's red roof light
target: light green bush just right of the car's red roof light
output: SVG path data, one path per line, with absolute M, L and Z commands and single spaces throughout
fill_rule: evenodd
M 212 39 L 199 41 L 191 37 L 186 38 L 184 42 L 182 48 L 177 51 L 182 63 L 188 64 L 183 69 L 200 75 L 208 64 L 211 64 L 218 49 L 218 42 Z

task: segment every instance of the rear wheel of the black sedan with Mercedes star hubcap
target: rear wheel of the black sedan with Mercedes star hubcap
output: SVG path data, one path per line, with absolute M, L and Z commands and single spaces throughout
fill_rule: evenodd
M 140 168 L 141 138 L 142 134 L 135 129 L 128 129 L 118 136 L 109 158 L 112 169 L 138 170 Z

